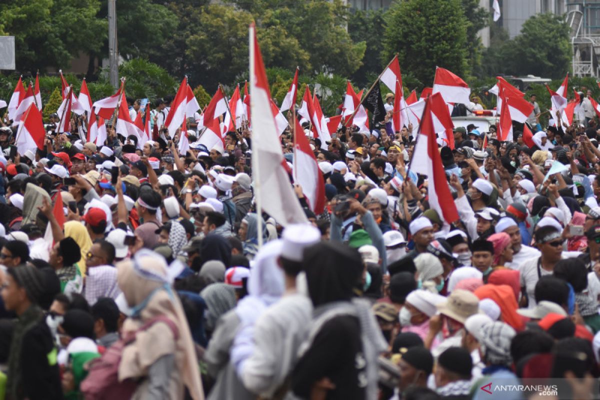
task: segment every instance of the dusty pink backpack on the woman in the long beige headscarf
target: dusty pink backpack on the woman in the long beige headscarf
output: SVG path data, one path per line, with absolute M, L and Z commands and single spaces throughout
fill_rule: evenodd
M 103 356 L 92 360 L 88 365 L 88 376 L 82 381 L 80 391 L 88 400 L 125 400 L 130 399 L 137 389 L 138 380 L 126 379 L 119 382 L 119 365 L 124 348 L 136 340 L 138 332 L 143 332 L 157 322 L 166 323 L 175 339 L 178 329 L 175 323 L 164 315 L 152 318 L 140 329 L 131 332 L 125 338 L 116 341 L 106 349 Z

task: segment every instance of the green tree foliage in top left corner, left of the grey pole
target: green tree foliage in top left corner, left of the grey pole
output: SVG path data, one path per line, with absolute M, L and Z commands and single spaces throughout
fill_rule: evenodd
M 98 10 L 97 0 L 0 2 L 0 31 L 15 37 L 17 70 L 64 68 L 79 53 L 100 50 L 107 22 Z

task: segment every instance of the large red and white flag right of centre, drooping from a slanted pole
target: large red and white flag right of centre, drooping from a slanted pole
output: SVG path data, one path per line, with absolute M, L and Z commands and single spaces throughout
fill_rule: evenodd
M 452 199 L 446 172 L 442 164 L 442 156 L 437 149 L 436 128 L 433 124 L 433 96 L 425 100 L 425 109 L 419 127 L 418 139 L 415 145 L 415 154 L 410 163 L 410 170 L 427 175 L 427 196 L 431 208 L 437 211 L 440 218 L 447 224 L 458 220 L 458 212 Z

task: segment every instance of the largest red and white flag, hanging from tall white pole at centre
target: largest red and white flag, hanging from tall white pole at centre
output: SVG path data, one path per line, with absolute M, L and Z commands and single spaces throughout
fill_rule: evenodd
M 308 220 L 294 193 L 286 170 L 277 126 L 271 112 L 269 82 L 260 55 L 254 24 L 250 25 L 250 92 L 252 126 L 252 169 L 255 195 L 262 209 L 283 226 Z

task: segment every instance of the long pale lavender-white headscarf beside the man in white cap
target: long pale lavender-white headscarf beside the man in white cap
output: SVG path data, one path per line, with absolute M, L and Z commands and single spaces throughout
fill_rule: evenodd
M 230 351 L 231 361 L 240 376 L 245 361 L 254 352 L 254 323 L 286 289 L 283 271 L 277 263 L 282 248 L 283 240 L 266 243 L 250 264 L 248 296 L 239 300 L 236 307 L 241 326 Z

